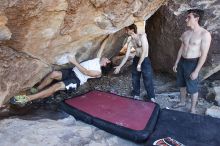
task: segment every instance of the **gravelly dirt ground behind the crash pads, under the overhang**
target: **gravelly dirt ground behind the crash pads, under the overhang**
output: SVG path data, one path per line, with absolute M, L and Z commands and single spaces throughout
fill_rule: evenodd
M 155 74 L 154 75 L 154 86 L 156 93 L 156 102 L 160 105 L 161 108 L 169 108 L 172 109 L 172 105 L 177 103 L 179 99 L 179 90 L 175 85 L 175 78 L 173 76 L 167 74 Z M 207 83 L 206 83 L 207 84 Z M 205 98 L 208 94 L 206 84 L 200 84 L 200 92 L 199 92 L 199 101 L 197 105 L 197 114 L 203 115 L 205 110 L 211 107 L 214 103 L 208 102 Z M 103 76 L 99 79 L 90 79 L 86 84 L 82 85 L 78 88 L 76 92 L 68 93 L 66 91 L 60 91 L 49 98 L 43 100 L 36 100 L 32 103 L 28 104 L 25 107 L 15 107 L 11 106 L 11 108 L 0 113 L 0 118 L 5 118 L 13 115 L 24 115 L 33 110 L 37 110 L 38 108 L 44 107 L 52 107 L 56 109 L 59 102 L 63 99 L 70 98 L 72 96 L 76 96 L 82 93 L 85 93 L 89 90 L 101 90 L 106 92 L 115 93 L 118 95 L 126 96 L 128 98 L 132 98 L 130 96 L 130 92 L 132 90 L 131 85 L 131 71 L 130 68 L 127 70 L 123 70 L 122 73 L 118 75 L 114 75 L 112 72 L 106 76 Z M 141 97 L 142 100 L 146 100 L 147 93 L 144 89 L 143 82 L 141 80 Z M 190 109 L 190 97 L 187 98 L 186 107 L 176 108 L 173 110 L 189 112 Z

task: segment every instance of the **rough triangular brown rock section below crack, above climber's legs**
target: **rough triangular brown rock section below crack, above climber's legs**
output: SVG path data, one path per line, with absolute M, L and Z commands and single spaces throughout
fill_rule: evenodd
M 42 61 L 8 47 L 0 46 L 0 59 L 0 105 L 51 70 Z

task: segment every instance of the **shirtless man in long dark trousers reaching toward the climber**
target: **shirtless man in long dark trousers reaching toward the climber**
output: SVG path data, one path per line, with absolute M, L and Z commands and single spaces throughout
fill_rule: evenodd
M 132 24 L 126 28 L 126 33 L 129 35 L 127 43 L 124 47 L 127 47 L 125 57 L 119 66 L 115 67 L 115 74 L 118 74 L 121 67 L 126 63 L 131 49 L 136 50 L 136 56 L 133 59 L 132 64 L 132 96 L 135 99 L 140 99 L 140 77 L 142 75 L 144 87 L 147 91 L 148 98 L 155 102 L 155 93 L 153 86 L 153 71 L 151 63 L 148 58 L 148 40 L 146 34 L 137 34 L 137 26 Z

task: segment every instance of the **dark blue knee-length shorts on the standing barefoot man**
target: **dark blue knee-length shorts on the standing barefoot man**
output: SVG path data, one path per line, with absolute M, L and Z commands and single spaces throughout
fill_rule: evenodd
M 190 75 L 195 70 L 199 58 L 186 59 L 181 57 L 177 66 L 177 86 L 186 87 L 189 94 L 198 92 L 198 78 L 191 80 Z

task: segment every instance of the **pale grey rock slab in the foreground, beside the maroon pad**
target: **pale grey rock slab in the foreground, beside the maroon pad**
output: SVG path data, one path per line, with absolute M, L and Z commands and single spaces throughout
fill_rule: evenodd
M 50 109 L 1 120 L 0 140 L 2 146 L 138 146 Z

